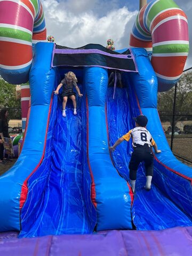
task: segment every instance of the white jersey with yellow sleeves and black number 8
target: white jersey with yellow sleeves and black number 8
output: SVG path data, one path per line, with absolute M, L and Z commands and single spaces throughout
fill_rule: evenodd
M 145 127 L 135 127 L 134 129 L 127 132 L 122 136 L 126 141 L 129 141 L 132 138 L 132 146 L 137 147 L 137 145 L 143 146 L 148 144 L 150 147 L 154 146 L 155 141 L 153 140 L 151 134 Z

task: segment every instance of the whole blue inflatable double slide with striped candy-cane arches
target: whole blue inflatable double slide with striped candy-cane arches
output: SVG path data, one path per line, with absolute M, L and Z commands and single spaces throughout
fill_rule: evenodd
M 130 47 L 117 51 L 42 42 L 38 0 L 3 0 L 0 19 L 0 74 L 12 84 L 29 81 L 31 95 L 21 154 L 0 177 L 0 253 L 18 246 L 24 255 L 27 246 L 27 255 L 188 255 L 192 172 L 173 156 L 157 111 L 157 92 L 173 87 L 185 66 L 186 14 L 172 0 L 151 1 L 135 20 Z M 83 97 L 77 115 L 68 100 L 64 118 L 53 91 L 69 70 Z M 112 70 L 123 88 L 108 87 Z M 162 153 L 154 153 L 151 190 L 141 164 L 133 195 L 131 141 L 114 153 L 109 146 L 139 114 Z

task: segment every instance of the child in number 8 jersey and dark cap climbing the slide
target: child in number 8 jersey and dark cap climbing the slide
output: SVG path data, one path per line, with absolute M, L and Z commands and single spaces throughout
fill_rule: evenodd
M 109 147 L 111 151 L 114 151 L 115 148 L 124 140 L 129 141 L 132 138 L 133 153 L 129 163 L 130 169 L 130 184 L 133 190 L 135 191 L 135 181 L 137 178 L 137 169 L 141 162 L 145 163 L 146 169 L 146 185 L 145 189 L 150 190 L 151 180 L 153 178 L 153 166 L 154 166 L 154 156 L 152 147 L 155 149 L 155 153 L 161 153 L 161 150 L 157 149 L 157 145 L 153 138 L 151 137 L 150 132 L 146 129 L 148 119 L 144 115 L 139 115 L 135 118 L 136 127 L 121 138 L 119 138 L 112 147 Z

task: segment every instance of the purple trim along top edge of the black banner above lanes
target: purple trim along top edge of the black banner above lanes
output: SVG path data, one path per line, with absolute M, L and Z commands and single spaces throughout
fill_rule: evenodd
M 127 54 L 127 55 L 112 54 L 112 53 L 103 52 L 103 51 L 98 50 L 98 49 L 84 49 L 84 50 L 55 49 L 55 50 L 53 50 L 53 52 L 54 53 L 60 53 L 60 54 L 99 53 L 99 54 L 102 54 L 102 55 L 107 55 L 107 56 L 115 57 L 115 58 L 118 58 L 118 59 L 132 59 L 133 58 L 133 55 L 131 55 L 131 54 Z M 131 58 L 128 58 L 127 56 L 131 56 Z

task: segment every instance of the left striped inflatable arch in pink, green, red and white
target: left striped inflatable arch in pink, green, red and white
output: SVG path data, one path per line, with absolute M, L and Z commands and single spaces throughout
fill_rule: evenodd
M 46 41 L 40 0 L 0 2 L 0 73 L 11 84 L 29 81 L 32 44 Z

